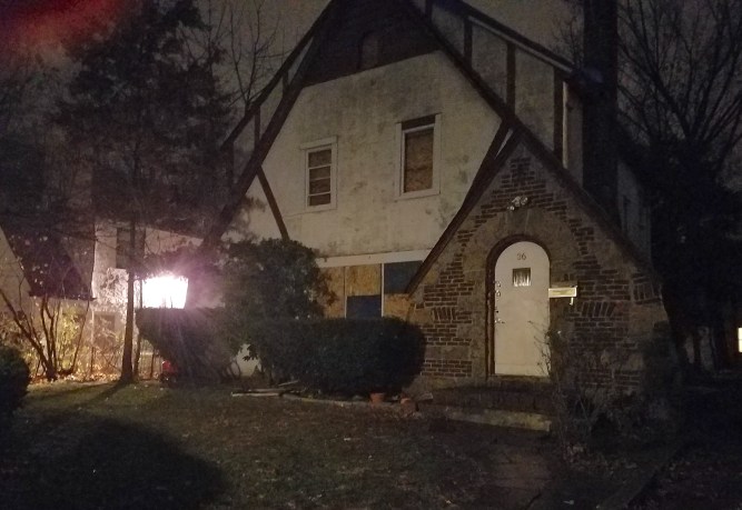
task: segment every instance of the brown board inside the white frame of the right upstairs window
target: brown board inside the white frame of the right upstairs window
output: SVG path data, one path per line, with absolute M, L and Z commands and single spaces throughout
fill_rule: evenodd
M 403 131 L 403 192 L 433 188 L 434 127 Z

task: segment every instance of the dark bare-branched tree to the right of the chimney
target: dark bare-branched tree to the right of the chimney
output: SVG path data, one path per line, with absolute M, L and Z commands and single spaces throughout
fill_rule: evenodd
M 565 1 L 582 12 L 594 0 Z M 742 207 L 728 178 L 742 153 L 742 0 L 622 0 L 617 17 L 617 120 L 643 148 L 653 260 L 681 339 L 713 327 L 741 283 Z M 584 66 L 577 20 L 562 39 Z

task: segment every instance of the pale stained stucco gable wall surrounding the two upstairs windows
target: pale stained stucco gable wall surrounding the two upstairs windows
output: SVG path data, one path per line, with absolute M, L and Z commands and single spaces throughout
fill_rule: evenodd
M 397 123 L 431 114 L 441 114 L 441 192 L 399 199 Z M 323 256 L 429 249 L 457 211 L 498 123 L 435 52 L 304 89 L 264 169 L 289 237 Z M 308 211 L 300 147 L 332 137 L 337 140 L 336 207 Z M 233 228 L 239 223 L 246 223 L 245 216 Z M 247 223 L 258 237 L 275 234 L 263 220 Z

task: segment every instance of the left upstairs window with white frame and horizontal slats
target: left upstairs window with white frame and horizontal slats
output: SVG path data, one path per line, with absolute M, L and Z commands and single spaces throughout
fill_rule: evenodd
M 305 164 L 305 206 L 307 209 L 335 207 L 337 140 L 319 140 L 301 146 Z

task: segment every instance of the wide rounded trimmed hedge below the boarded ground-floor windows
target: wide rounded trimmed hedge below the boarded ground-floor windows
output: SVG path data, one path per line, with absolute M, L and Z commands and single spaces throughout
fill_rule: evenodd
M 326 393 L 398 391 L 423 364 L 422 331 L 399 319 L 256 320 L 247 330 L 264 369 Z

